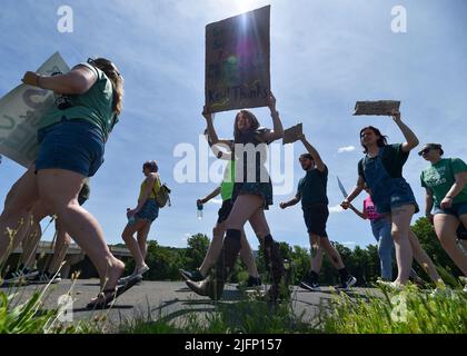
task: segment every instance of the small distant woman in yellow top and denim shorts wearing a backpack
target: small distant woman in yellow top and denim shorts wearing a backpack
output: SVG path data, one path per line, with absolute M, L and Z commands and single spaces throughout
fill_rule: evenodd
M 157 194 L 161 184 L 158 171 L 159 166 L 155 160 L 146 161 L 142 165 L 142 174 L 146 178 L 139 189 L 138 205 L 135 209 L 127 210 L 128 224 L 121 237 L 135 258 L 135 270 L 130 276 L 121 278 L 120 283 L 125 283 L 133 276 L 142 278 L 142 275 L 149 270 L 145 259 L 148 254 L 148 234 L 151 224 L 159 216 Z M 137 239 L 133 237 L 135 233 Z

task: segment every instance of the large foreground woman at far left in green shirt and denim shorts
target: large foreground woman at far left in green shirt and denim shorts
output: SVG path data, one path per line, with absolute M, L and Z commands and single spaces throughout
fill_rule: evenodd
M 22 81 L 53 90 L 57 100 L 41 118 L 34 165 L 8 194 L 0 218 L 0 263 L 20 243 L 11 231 L 40 199 L 56 211 L 64 230 L 96 266 L 101 293 L 88 307 L 103 307 L 136 281 L 117 289 L 125 265 L 110 253 L 96 218 L 79 206 L 78 194 L 85 178 L 93 176 L 103 161 L 105 144 L 122 110 L 123 78 L 110 60 L 98 58 L 67 75 L 28 71 Z

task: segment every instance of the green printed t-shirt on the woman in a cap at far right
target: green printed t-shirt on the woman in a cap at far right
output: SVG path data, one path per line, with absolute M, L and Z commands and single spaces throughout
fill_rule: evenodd
M 441 200 L 455 184 L 454 175 L 463 171 L 467 171 L 467 165 L 460 158 L 443 158 L 421 171 L 421 187 L 433 191 L 435 207 L 439 208 Z M 453 199 L 453 204 L 457 202 L 467 202 L 467 186 Z

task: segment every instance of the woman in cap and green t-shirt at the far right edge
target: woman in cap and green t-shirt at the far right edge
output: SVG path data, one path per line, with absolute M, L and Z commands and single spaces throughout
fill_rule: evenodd
M 430 162 L 420 175 L 426 189 L 425 215 L 443 248 L 467 276 L 467 256 L 456 243 L 459 225 L 467 227 L 467 165 L 460 158 L 444 158 L 439 144 L 425 145 L 418 155 Z

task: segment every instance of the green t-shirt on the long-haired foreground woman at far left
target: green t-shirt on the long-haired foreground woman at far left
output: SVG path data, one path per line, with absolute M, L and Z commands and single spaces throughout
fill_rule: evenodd
M 61 110 L 57 103 L 53 105 L 42 117 L 39 129 L 59 122 L 64 116 L 68 120 L 83 119 L 96 125 L 103 139 L 107 139 L 117 122 L 113 112 L 113 85 L 102 70 L 89 63 L 78 66 L 92 70 L 97 77 L 95 85 L 82 95 L 68 96 L 72 105 L 70 108 Z

